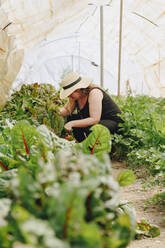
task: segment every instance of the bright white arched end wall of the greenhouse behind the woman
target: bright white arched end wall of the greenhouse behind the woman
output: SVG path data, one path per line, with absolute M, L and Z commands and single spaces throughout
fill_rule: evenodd
M 90 48 L 90 50 L 89 50 Z M 69 70 L 77 71 L 81 75 L 92 77 L 96 84 L 100 84 L 100 60 L 99 42 L 94 40 L 81 39 L 77 36 L 70 36 L 55 41 L 48 39 L 37 48 L 25 54 L 23 66 L 13 84 L 13 88 L 21 85 L 22 82 L 51 83 L 56 88 L 64 73 Z M 88 52 L 89 50 L 89 52 Z M 107 50 L 107 51 L 106 51 Z M 104 88 L 110 93 L 117 93 L 118 56 L 113 47 L 105 46 L 105 68 Z M 126 91 L 127 76 L 132 79 L 134 93 L 149 94 L 144 84 L 143 72 L 133 59 L 123 59 L 123 69 L 129 67 L 128 74 L 123 74 L 122 93 Z

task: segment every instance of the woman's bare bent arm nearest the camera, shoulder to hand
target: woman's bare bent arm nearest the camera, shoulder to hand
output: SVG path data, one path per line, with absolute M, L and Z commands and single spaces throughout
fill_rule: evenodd
M 93 89 L 89 93 L 89 115 L 90 117 L 70 121 L 65 124 L 65 128 L 70 131 L 72 127 L 88 127 L 94 124 L 97 124 L 100 121 L 101 113 L 102 113 L 102 99 L 103 93 L 99 89 Z

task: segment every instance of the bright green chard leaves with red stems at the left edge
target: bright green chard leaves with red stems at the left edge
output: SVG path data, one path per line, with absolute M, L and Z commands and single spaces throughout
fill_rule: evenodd
M 46 159 L 47 147 L 39 132 L 28 121 L 19 121 L 13 128 L 4 129 L 2 137 L 4 144 L 0 162 L 6 170 L 18 167 L 22 161 L 33 159 L 34 153 Z

